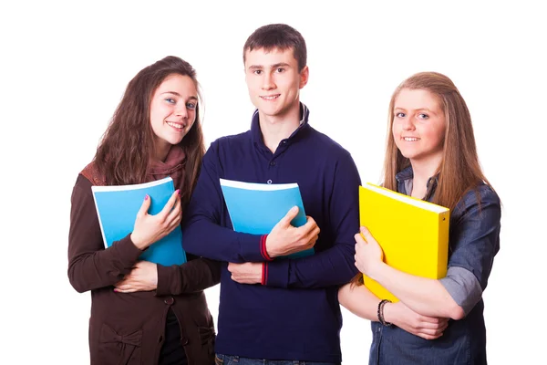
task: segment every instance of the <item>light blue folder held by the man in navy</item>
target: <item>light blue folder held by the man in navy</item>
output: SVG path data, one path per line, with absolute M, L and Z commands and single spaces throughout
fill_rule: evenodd
M 268 235 L 294 206 L 298 207 L 298 214 L 291 224 L 299 227 L 306 222 L 297 183 L 243 183 L 221 179 L 221 188 L 236 232 Z M 314 248 L 310 248 L 288 257 L 298 258 L 314 253 Z

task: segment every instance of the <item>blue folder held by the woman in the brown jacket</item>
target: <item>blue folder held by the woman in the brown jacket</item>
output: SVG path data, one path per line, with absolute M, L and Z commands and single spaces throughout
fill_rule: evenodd
M 151 183 L 92 186 L 91 190 L 106 247 L 133 232 L 135 218 L 146 194 L 149 194 L 151 199 L 148 213 L 158 214 L 175 191 L 170 177 Z M 181 226 L 177 226 L 169 235 L 150 245 L 139 259 L 163 266 L 185 263 L 186 253 L 182 249 Z

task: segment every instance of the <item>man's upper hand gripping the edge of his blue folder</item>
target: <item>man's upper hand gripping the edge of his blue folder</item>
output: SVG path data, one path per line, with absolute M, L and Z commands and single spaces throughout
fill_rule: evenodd
M 298 207 L 294 206 L 270 232 L 266 238 L 266 252 L 272 258 L 291 255 L 305 251 L 315 245 L 319 237 L 319 227 L 314 218 L 306 216 L 306 223 L 300 227 L 291 225 L 291 221 L 298 214 Z

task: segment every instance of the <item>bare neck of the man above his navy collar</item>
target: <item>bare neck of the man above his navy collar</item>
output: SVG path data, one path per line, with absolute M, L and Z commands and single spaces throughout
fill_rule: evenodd
M 262 111 L 258 110 L 263 141 L 272 153 L 275 152 L 281 141 L 289 138 L 300 126 L 300 103 L 294 104 L 293 108 L 276 116 L 264 115 Z

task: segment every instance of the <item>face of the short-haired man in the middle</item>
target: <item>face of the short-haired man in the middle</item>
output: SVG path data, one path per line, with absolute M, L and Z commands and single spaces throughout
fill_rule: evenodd
M 283 120 L 299 110 L 300 89 L 307 83 L 307 66 L 298 72 L 293 49 L 263 48 L 245 54 L 245 80 L 261 120 Z

